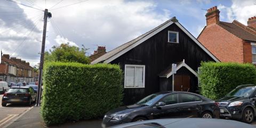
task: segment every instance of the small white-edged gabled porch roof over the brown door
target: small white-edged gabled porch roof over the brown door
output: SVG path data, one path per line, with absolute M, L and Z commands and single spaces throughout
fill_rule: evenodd
M 196 73 L 195 70 L 193 70 L 192 68 L 190 68 L 186 63 L 185 60 L 175 63 L 177 64 L 176 70 L 179 70 L 182 67 L 187 68 L 191 73 L 193 73 L 196 77 L 198 76 L 198 74 Z M 163 70 L 158 76 L 159 77 L 166 77 L 169 78 L 170 76 L 172 76 L 172 65 L 168 66 L 165 70 Z

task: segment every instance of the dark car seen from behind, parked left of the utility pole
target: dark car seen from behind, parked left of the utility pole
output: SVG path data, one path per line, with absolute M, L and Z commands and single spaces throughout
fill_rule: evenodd
M 4 93 L 2 98 L 2 106 L 7 103 L 25 103 L 31 106 L 31 103 L 36 101 L 36 93 L 30 86 L 14 86 Z

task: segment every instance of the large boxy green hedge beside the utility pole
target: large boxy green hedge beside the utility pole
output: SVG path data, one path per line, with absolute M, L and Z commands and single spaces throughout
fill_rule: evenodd
M 41 114 L 46 125 L 99 117 L 121 105 L 122 93 L 117 65 L 47 63 Z

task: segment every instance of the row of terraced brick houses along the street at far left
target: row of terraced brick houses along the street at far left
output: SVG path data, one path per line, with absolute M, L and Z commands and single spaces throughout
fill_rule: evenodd
M 34 82 L 38 73 L 29 65 L 29 62 L 9 54 L 1 54 L 0 81 L 6 82 Z

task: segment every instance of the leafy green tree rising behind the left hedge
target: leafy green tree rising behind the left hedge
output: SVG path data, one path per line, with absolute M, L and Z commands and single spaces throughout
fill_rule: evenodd
M 69 43 L 53 46 L 50 52 L 45 52 L 45 62 L 61 61 L 61 62 L 79 62 L 89 64 L 90 59 L 86 57 L 84 49 L 76 46 L 70 46 Z

